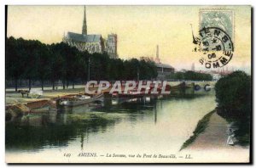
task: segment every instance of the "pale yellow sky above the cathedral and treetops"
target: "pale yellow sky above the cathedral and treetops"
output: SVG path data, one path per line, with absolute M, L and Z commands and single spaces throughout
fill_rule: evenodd
M 250 6 L 86 6 L 87 32 L 104 38 L 116 33 L 120 59 L 155 57 L 159 45 L 162 63 L 177 70 L 191 69 L 195 63 L 195 70 L 200 70 L 190 24 L 197 35 L 201 8 L 234 11 L 235 51 L 228 66 L 250 71 Z M 84 6 L 9 6 L 7 36 L 61 42 L 67 31 L 81 33 L 83 17 Z

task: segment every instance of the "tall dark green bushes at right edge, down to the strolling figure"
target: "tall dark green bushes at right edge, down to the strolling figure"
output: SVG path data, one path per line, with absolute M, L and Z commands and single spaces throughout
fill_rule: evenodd
M 215 85 L 218 115 L 223 116 L 237 126 L 235 137 L 238 144 L 250 143 L 251 76 L 245 72 L 235 71 L 218 80 Z

